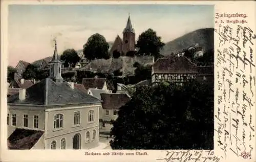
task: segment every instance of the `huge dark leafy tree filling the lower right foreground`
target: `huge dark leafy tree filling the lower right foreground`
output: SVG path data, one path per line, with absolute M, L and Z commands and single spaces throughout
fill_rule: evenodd
M 112 149 L 213 149 L 214 92 L 189 81 L 139 86 L 118 111 Z

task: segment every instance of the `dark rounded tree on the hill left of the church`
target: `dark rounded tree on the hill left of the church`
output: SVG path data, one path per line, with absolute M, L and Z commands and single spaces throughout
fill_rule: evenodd
M 89 60 L 108 59 L 110 57 L 109 47 L 104 36 L 96 33 L 90 36 L 87 43 L 83 45 L 83 55 Z

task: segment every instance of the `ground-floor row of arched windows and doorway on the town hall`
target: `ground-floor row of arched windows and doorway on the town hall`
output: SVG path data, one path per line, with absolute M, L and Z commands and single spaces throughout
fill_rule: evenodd
M 96 130 L 93 130 L 92 133 L 92 141 L 96 140 Z M 90 142 L 90 131 L 86 132 L 86 143 Z M 57 149 L 57 142 L 52 141 L 51 142 L 51 149 L 55 150 Z M 60 141 L 60 149 L 66 149 L 66 139 L 62 138 Z M 81 135 L 75 134 L 73 137 L 73 149 L 81 149 Z

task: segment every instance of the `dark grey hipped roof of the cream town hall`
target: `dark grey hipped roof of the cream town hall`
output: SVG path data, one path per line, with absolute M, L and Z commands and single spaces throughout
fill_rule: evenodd
M 19 94 L 16 94 L 8 98 L 8 104 L 10 103 L 54 106 L 93 104 L 101 101 L 77 88 L 70 88 L 67 82 L 56 83 L 46 78 L 26 89 L 25 100 L 20 101 Z

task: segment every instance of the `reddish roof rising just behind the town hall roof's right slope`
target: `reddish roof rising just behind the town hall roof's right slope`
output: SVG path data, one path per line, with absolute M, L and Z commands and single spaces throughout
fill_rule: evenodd
M 88 90 L 89 88 L 102 89 L 106 78 L 83 78 L 82 84 Z

